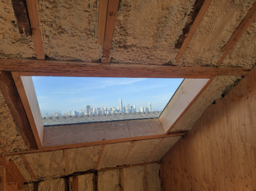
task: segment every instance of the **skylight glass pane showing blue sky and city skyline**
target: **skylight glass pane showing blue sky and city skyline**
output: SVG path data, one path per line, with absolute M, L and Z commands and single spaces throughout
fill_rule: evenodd
M 183 79 L 33 76 L 44 125 L 157 118 Z

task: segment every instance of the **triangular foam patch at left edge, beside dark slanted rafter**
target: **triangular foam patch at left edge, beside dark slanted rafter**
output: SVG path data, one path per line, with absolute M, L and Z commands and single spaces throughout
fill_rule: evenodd
M 0 149 L 7 152 L 28 150 L 24 140 L 16 126 L 11 111 L 0 91 Z

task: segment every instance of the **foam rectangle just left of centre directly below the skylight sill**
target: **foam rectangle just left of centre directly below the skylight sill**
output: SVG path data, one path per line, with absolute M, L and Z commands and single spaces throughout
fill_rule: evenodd
M 69 149 L 70 173 L 94 169 L 100 153 L 100 146 Z

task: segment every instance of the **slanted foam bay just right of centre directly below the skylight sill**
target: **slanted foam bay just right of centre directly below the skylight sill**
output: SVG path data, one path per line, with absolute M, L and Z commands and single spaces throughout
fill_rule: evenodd
M 121 165 L 131 145 L 132 142 L 105 145 L 98 169 Z

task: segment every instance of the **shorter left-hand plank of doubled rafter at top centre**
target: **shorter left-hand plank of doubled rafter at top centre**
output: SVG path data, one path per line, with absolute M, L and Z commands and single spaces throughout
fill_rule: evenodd
M 100 0 L 99 22 L 98 22 L 98 43 L 99 44 L 104 43 L 107 3 L 108 3 L 108 0 Z

